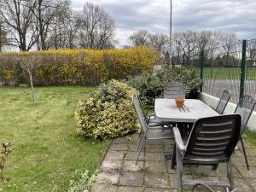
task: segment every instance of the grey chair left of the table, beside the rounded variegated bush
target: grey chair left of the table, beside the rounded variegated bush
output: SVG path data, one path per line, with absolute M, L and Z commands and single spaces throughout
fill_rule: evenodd
M 141 154 L 141 150 L 143 147 L 145 147 L 146 140 L 170 139 L 170 138 L 173 138 L 173 135 L 172 135 L 172 130 L 166 129 L 166 127 L 164 126 L 149 126 L 147 124 L 147 121 L 145 120 L 143 109 L 140 107 L 137 94 L 134 94 L 131 97 L 131 100 L 136 110 L 137 118 L 142 128 L 142 134 L 138 143 L 138 150 L 139 150 L 137 155 L 137 161 L 138 161 L 139 156 Z M 137 164 L 137 161 L 136 161 L 136 164 Z

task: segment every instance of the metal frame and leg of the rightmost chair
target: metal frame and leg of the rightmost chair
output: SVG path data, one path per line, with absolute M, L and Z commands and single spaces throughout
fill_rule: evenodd
M 255 100 L 255 98 L 254 98 L 253 96 L 248 96 L 248 95 L 246 95 L 246 96 L 241 96 L 239 102 L 237 103 L 236 110 L 235 110 L 234 113 L 237 112 L 237 109 L 238 109 L 238 108 L 241 108 L 241 105 L 243 104 L 244 101 L 246 101 L 246 102 L 251 102 L 252 108 L 251 108 L 250 113 L 248 113 L 249 115 L 248 115 L 248 118 L 247 118 L 247 119 L 244 119 L 244 117 L 241 115 L 241 119 L 242 119 L 242 122 L 243 122 L 243 123 L 241 124 L 241 135 L 242 135 L 242 133 L 243 133 L 244 131 L 247 130 L 247 123 L 248 123 L 248 121 L 249 121 L 249 119 L 250 119 L 250 117 L 251 117 L 251 115 L 252 115 L 252 113 L 253 113 L 253 109 L 254 109 L 255 106 L 256 106 L 256 100 Z M 242 137 L 240 137 L 240 141 L 241 141 L 242 152 L 243 152 L 243 155 L 244 155 L 244 158 L 245 158 L 245 161 L 246 161 L 246 165 L 247 165 L 247 170 L 250 170 L 249 162 L 248 162 L 248 160 L 247 160 L 247 152 L 246 152 L 246 148 L 245 148 L 245 146 L 244 146 Z

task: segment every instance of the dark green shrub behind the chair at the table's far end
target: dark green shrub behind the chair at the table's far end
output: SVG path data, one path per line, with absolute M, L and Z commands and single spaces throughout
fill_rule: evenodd
M 147 105 L 154 104 L 154 99 L 163 96 L 164 86 L 168 82 L 183 82 L 187 98 L 195 98 L 201 80 L 195 69 L 164 67 L 156 73 L 147 73 L 131 77 L 127 83 L 137 89 Z

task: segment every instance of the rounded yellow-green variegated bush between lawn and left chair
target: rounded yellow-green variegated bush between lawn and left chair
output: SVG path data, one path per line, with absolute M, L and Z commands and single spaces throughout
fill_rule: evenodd
M 101 84 L 96 92 L 79 102 L 75 112 L 79 135 L 107 139 L 137 131 L 137 115 L 131 102 L 135 92 L 117 80 Z

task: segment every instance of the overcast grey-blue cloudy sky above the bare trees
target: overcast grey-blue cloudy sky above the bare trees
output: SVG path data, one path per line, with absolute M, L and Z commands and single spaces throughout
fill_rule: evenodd
M 170 0 L 72 0 L 74 9 L 85 2 L 101 6 L 116 23 L 119 45 L 138 29 L 169 33 Z M 172 0 L 173 31 L 204 29 L 235 32 L 256 38 L 256 0 Z

